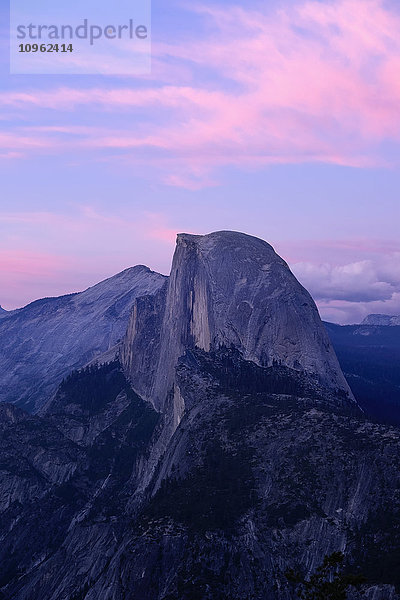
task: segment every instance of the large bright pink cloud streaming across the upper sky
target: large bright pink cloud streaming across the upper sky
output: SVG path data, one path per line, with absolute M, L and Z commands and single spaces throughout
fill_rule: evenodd
M 155 42 L 156 75 L 178 65 L 168 71 L 169 85 L 160 77 L 143 78 L 137 89 L 3 92 L 0 104 L 25 116 L 32 111 L 39 124 L 30 134 L 15 128 L 0 139 L 0 151 L 34 142 L 42 152 L 90 148 L 110 160 L 119 151 L 151 165 L 168 185 L 189 189 L 214 185 L 226 165 L 394 164 L 382 144 L 400 143 L 400 16 L 387 3 L 298 0 L 263 12 L 192 10 L 209 23 L 208 33 Z M 75 120 L 85 107 L 92 124 L 77 135 Z M 56 127 L 49 131 L 49 110 L 62 113 L 63 143 L 55 141 Z M 114 118 L 121 111 L 123 127 Z

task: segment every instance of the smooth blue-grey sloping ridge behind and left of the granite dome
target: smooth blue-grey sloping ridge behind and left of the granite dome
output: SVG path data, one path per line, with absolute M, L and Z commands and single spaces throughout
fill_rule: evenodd
M 164 280 L 138 266 L 85 292 L 6 312 L 0 321 L 0 401 L 37 411 L 65 375 L 123 337 L 134 299 L 155 292 Z

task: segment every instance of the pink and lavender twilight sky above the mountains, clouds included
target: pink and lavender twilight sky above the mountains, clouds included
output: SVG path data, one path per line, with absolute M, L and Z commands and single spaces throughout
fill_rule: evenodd
M 322 317 L 400 314 L 400 8 L 153 0 L 149 75 L 10 75 L 0 9 L 0 304 L 135 264 L 178 232 L 271 243 Z

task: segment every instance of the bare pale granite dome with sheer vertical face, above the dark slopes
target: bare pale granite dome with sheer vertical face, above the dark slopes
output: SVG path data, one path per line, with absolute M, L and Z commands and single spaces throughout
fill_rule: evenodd
M 228 231 L 180 234 L 165 289 L 157 300 L 135 303 L 125 368 L 138 392 L 162 409 L 179 393 L 175 367 L 186 349 L 221 346 L 260 366 L 307 371 L 351 397 L 314 301 L 269 244 Z

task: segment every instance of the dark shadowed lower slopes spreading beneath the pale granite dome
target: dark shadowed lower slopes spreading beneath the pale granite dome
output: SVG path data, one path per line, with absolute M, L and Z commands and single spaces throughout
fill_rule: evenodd
M 368 577 L 349 598 L 398 600 L 399 429 L 234 349 L 187 352 L 176 380 L 185 414 L 141 495 L 162 420 L 118 364 L 45 417 L 1 407 L 4 600 L 295 600 L 287 569 L 338 550 Z

